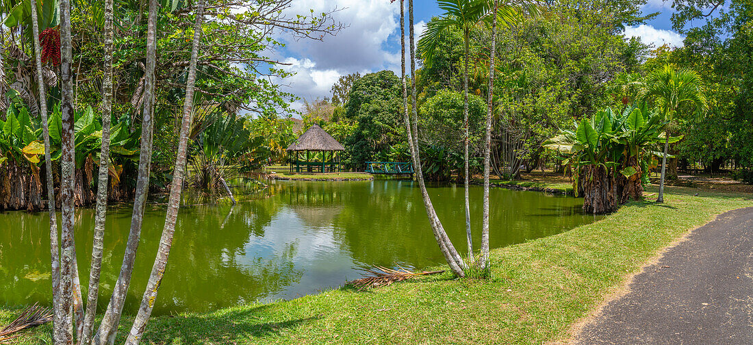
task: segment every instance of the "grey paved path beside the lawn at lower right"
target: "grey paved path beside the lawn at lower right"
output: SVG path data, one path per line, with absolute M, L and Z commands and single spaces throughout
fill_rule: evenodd
M 724 213 L 669 249 L 575 343 L 753 344 L 753 207 Z

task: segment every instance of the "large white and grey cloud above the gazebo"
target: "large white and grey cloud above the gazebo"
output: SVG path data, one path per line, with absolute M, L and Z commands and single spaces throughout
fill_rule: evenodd
M 325 36 L 323 41 L 294 40 L 282 34 L 285 48 L 275 54 L 280 60 L 292 63 L 281 66 L 288 72 L 296 72 L 281 81 L 289 87 L 283 90 L 305 99 L 330 95 L 330 89 L 342 75 L 360 72 L 375 72 L 381 69 L 400 70 L 400 53 L 391 53 L 390 40 L 400 35 L 399 2 L 388 0 L 299 0 L 291 3 L 290 14 L 309 14 L 332 11 L 336 22 L 346 25 L 336 36 Z M 425 27 L 424 22 L 415 24 L 416 35 Z M 296 102 L 300 108 L 302 102 Z

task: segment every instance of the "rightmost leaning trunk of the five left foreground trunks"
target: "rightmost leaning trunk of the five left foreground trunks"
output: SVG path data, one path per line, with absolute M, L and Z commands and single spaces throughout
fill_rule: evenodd
M 186 166 L 186 152 L 188 147 L 188 136 L 191 135 L 191 115 L 194 108 L 194 84 L 196 84 L 196 65 L 199 56 L 199 44 L 201 38 L 201 23 L 204 11 L 203 0 L 198 0 L 196 10 L 196 24 L 194 26 L 194 42 L 191 48 L 191 63 L 188 66 L 188 79 L 186 81 L 186 94 L 183 101 L 183 123 L 181 124 L 180 142 L 178 143 L 178 156 L 175 157 L 175 171 L 172 172 L 172 182 L 170 185 L 170 197 L 165 216 L 165 226 L 162 230 L 160 239 L 160 248 L 157 249 L 157 258 L 154 259 L 154 266 L 151 269 L 151 276 L 142 298 L 139 313 L 133 321 L 127 345 L 138 345 L 146 329 L 146 324 L 154 308 L 154 300 L 157 299 L 157 291 L 160 289 L 160 283 L 165 273 L 167 260 L 172 247 L 172 237 L 175 234 L 175 221 L 178 218 L 178 209 L 181 202 L 181 191 L 183 189 L 183 179 Z M 224 180 L 223 180 L 224 182 Z M 232 194 L 230 194 L 232 197 Z M 233 199 L 233 205 L 235 200 Z

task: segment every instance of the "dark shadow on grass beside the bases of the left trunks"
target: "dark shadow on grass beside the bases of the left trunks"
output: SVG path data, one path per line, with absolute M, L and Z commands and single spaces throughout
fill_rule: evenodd
M 275 313 L 270 305 L 223 313 L 160 317 L 150 321 L 142 343 L 174 343 L 178 339 L 182 344 L 253 342 L 254 338 L 276 336 L 321 318 L 321 315 L 298 317 Z

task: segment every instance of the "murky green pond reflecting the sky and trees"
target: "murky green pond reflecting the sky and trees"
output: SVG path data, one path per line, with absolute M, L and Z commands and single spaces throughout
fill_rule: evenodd
M 450 239 L 465 252 L 462 185 L 428 188 Z M 336 288 L 371 265 L 422 269 L 444 259 L 418 185 L 406 180 L 270 182 L 236 191 L 236 206 L 184 200 L 155 314 L 205 312 Z M 471 188 L 471 224 L 480 243 L 483 188 Z M 490 245 L 523 243 L 595 221 L 581 199 L 531 191 L 490 191 Z M 126 310 L 137 309 L 162 231 L 165 209 L 147 206 Z M 99 307 L 120 270 L 131 206 L 108 210 Z M 0 304 L 50 303 L 50 238 L 45 212 L 0 212 Z M 87 286 L 93 209 L 78 209 L 75 240 Z M 85 294 L 86 292 L 84 292 Z

